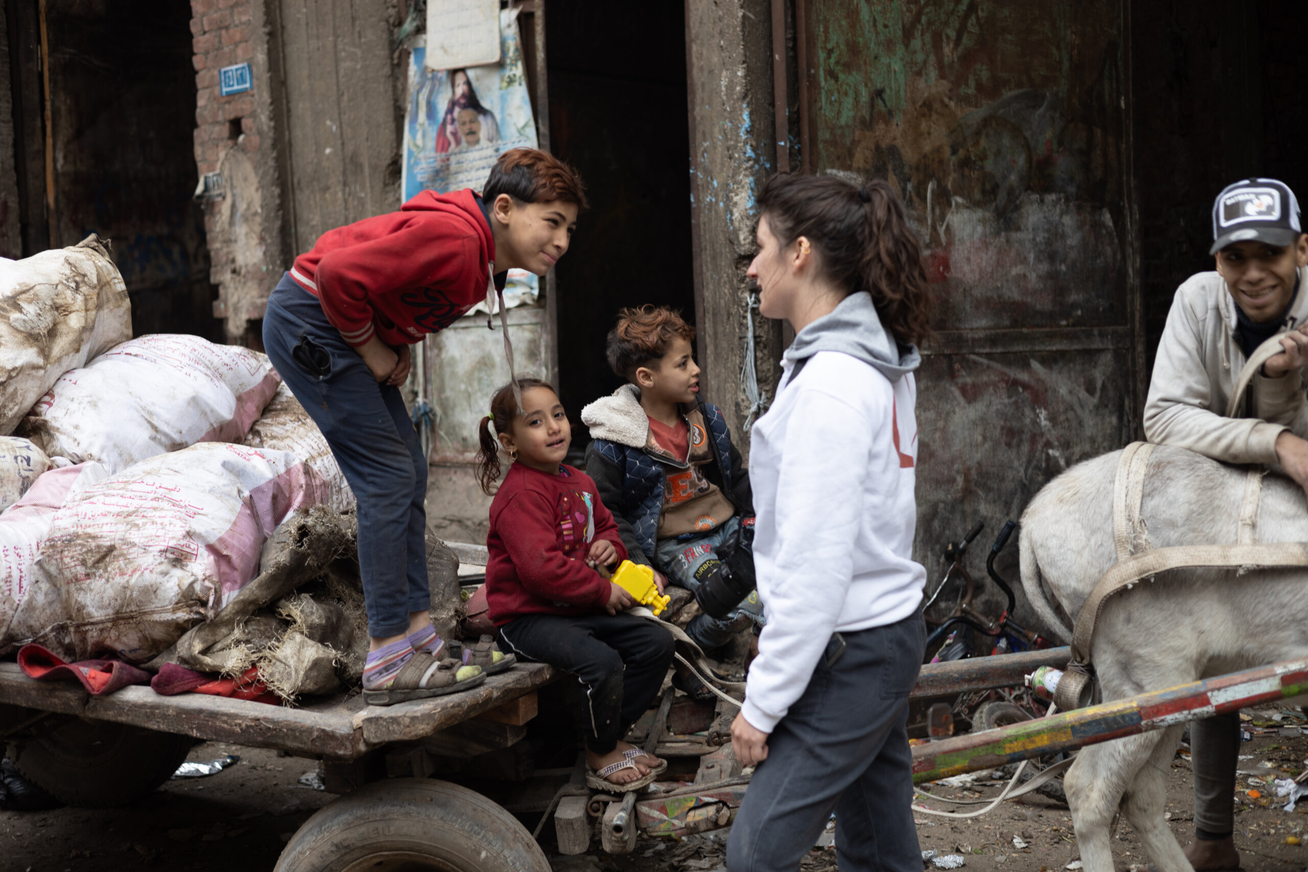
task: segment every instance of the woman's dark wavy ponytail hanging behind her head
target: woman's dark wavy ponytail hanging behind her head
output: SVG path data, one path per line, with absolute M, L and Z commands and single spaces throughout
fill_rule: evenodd
M 908 224 L 904 201 L 884 179 L 858 192 L 866 216 L 858 272 L 886 326 L 903 343 L 920 344 L 930 335 L 931 294 L 922 250 Z

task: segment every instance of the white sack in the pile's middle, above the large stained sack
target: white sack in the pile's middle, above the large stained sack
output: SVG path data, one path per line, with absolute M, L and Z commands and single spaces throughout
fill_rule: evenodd
M 141 336 L 65 373 L 18 429 L 111 475 L 199 442 L 241 442 L 277 390 L 268 358 L 199 336 Z

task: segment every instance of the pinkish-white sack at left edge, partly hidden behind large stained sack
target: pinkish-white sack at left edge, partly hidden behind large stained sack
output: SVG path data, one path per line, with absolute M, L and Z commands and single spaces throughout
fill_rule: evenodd
M 31 587 L 33 563 L 55 512 L 69 494 L 107 477 L 98 463 L 51 469 L 37 478 L 22 499 L 0 512 L 0 639 Z

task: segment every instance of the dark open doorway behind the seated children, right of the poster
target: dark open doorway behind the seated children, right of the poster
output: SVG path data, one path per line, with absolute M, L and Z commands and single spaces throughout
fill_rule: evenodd
M 654 303 L 695 320 L 685 12 L 549 0 L 545 38 L 551 146 L 591 203 L 556 267 L 559 383 L 579 463 L 581 408 L 621 384 L 604 363 L 617 311 Z

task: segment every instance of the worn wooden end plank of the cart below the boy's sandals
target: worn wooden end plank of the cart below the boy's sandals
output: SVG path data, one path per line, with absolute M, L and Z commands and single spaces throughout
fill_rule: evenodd
M 415 699 L 398 706 L 373 706 L 354 715 L 364 741 L 412 741 L 451 727 L 553 681 L 559 673 L 543 663 L 518 664 L 493 675 L 479 688 L 449 697 Z

